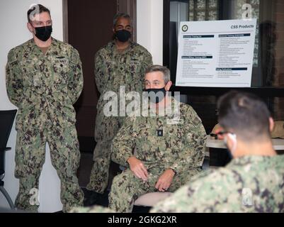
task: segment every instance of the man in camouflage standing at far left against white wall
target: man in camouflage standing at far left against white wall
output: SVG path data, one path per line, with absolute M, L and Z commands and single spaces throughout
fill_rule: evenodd
M 37 211 L 39 177 L 45 162 L 45 143 L 50 146 L 52 165 L 61 180 L 63 211 L 81 206 L 83 193 L 76 171 L 79 143 L 72 106 L 83 88 L 79 53 L 50 36 L 50 11 L 35 5 L 28 11 L 28 29 L 33 39 L 8 52 L 6 87 L 18 106 L 16 118 L 16 170 L 20 189 L 16 207 Z

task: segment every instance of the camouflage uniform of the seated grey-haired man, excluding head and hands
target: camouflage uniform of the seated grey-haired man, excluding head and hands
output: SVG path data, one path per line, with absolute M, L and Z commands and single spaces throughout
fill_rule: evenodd
M 174 105 L 174 98 L 171 98 Z M 170 123 L 174 114 L 127 118 L 113 139 L 112 160 L 128 166 L 133 156 L 142 160 L 147 168 L 147 182 L 138 179 L 127 169 L 113 179 L 109 194 L 109 207 L 119 212 L 131 212 L 135 199 L 154 192 L 159 176 L 167 169 L 176 171 L 169 192 L 200 172 L 205 156 L 206 133 L 193 108 L 180 103 L 178 122 Z M 158 135 L 158 133 L 161 133 Z

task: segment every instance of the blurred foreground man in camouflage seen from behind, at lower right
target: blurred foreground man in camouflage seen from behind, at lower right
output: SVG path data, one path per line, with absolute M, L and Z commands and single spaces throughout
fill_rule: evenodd
M 198 176 L 152 212 L 284 212 L 284 155 L 276 155 L 266 105 L 252 94 L 219 100 L 222 136 L 234 159 Z

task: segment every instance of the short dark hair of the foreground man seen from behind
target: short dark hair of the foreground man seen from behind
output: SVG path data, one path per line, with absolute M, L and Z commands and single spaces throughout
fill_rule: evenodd
M 269 117 L 266 104 L 256 95 L 232 91 L 217 102 L 218 121 L 225 131 L 236 133 L 243 141 L 270 138 Z

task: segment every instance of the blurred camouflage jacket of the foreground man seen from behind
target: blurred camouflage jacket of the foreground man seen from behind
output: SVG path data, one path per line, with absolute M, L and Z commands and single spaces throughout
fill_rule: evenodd
M 284 212 L 284 155 L 235 158 L 209 170 L 151 212 Z

